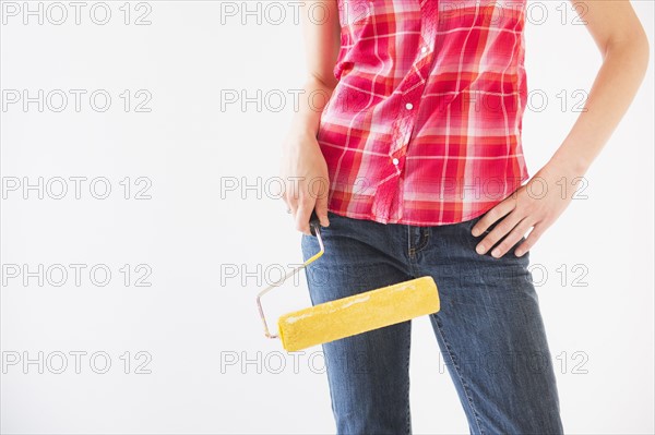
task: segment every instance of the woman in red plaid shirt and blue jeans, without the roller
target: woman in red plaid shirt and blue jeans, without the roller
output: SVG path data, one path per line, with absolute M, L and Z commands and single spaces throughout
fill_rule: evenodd
M 302 7 L 308 98 L 281 172 L 305 258 L 319 250 L 312 212 L 323 227 L 326 255 L 307 270 L 312 303 L 431 275 L 441 310 L 430 321 L 474 434 L 563 433 L 529 250 L 571 201 L 558 181 L 584 176 L 648 62 L 628 1 L 581 3 L 603 67 L 532 178 L 526 0 Z M 412 432 L 410 325 L 323 345 L 338 433 Z

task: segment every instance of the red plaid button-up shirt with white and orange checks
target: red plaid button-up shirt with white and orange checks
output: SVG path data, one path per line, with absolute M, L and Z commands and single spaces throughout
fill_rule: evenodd
M 525 2 L 338 0 L 338 83 L 317 135 L 331 212 L 456 223 L 528 179 Z

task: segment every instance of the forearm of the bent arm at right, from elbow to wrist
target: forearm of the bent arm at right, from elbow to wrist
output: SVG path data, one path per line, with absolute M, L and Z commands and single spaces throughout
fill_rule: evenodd
M 608 46 L 590 90 L 584 111 L 553 154 L 551 161 L 583 176 L 628 111 L 648 63 L 644 38 Z

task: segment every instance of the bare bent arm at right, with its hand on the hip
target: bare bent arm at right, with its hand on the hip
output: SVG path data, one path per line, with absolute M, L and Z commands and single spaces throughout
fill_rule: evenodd
M 592 161 L 600 153 L 628 111 L 646 72 L 648 41 L 645 32 L 628 0 L 571 0 L 582 3 L 582 20 L 594 38 L 603 65 L 590 90 L 575 124 L 553 156 L 516 193 L 497 204 L 475 225 L 472 232 L 480 234 L 489 226 L 502 219 L 477 245 L 479 254 L 486 254 L 499 240 L 504 240 L 491 251 L 496 257 L 503 256 L 531 228 L 526 240 L 515 251 L 523 255 L 563 213 L 571 195 L 561 197 L 558 189 L 548 189 L 544 197 L 527 194 L 533 180 L 538 179 L 536 192 L 556 186 L 562 177 L 573 180 L 584 176 Z M 533 195 L 534 196 L 534 195 Z M 507 234 L 507 237 L 505 237 Z

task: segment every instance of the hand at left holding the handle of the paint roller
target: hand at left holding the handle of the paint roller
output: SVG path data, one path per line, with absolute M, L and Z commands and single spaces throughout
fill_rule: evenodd
M 294 216 L 296 229 L 311 235 L 309 219 L 314 208 L 321 226 L 330 226 L 327 164 L 314 136 L 289 134 L 283 145 L 279 174 L 285 183 L 284 202 Z

